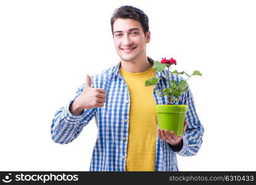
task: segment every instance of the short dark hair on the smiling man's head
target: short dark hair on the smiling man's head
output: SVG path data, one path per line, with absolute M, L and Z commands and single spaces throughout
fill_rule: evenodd
M 118 18 L 120 19 L 129 18 L 129 19 L 137 20 L 139 23 L 141 23 L 141 27 L 143 28 L 144 35 L 146 35 L 147 31 L 149 31 L 149 18 L 142 10 L 133 6 L 122 6 L 115 9 L 111 17 L 110 23 L 111 23 L 112 35 L 114 35 L 114 31 L 113 31 L 114 22 Z

